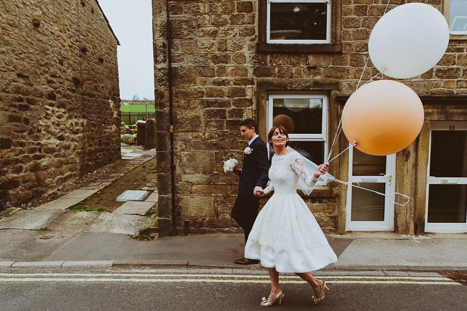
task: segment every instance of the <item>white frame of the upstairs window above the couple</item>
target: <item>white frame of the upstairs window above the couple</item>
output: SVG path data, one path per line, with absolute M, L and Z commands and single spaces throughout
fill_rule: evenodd
M 305 2 L 305 3 L 327 3 L 326 18 L 326 39 L 325 40 L 271 40 L 270 39 L 270 4 L 287 2 Z M 266 42 L 281 44 L 322 44 L 331 42 L 331 3 L 330 0 L 268 0 L 267 19 L 266 19 Z

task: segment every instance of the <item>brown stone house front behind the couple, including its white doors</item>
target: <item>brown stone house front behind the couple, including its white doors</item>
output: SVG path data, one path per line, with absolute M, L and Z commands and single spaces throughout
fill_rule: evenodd
M 295 135 L 293 140 L 318 146 L 321 158 L 317 158 L 326 159 L 347 98 L 356 90 L 360 77 L 366 82 L 378 73 L 371 61 L 365 67 L 368 39 L 387 1 L 331 0 L 325 12 L 329 17 L 325 20 L 325 42 L 305 44 L 281 41 L 284 38 L 280 33 L 275 37 L 280 42 L 270 40 L 268 23 L 272 17 L 268 17 L 268 10 L 273 2 L 153 0 L 161 235 L 238 229 L 230 216 L 238 178 L 224 174 L 222 165 L 231 157 L 240 161 L 243 158 L 246 142 L 241 140 L 238 127 L 242 119 L 257 120 L 259 134 L 265 140 L 273 115 L 284 110 L 280 103 L 287 106 L 283 98 L 308 98 L 310 103 L 318 100 L 322 107 L 317 121 L 323 124 L 321 136 L 310 134 L 302 139 Z M 449 15 L 445 12 L 449 0 L 419 2 Z M 404 3 L 390 1 L 388 10 Z M 298 12 L 300 5 L 294 10 Z M 437 65 L 420 76 L 399 80 L 420 96 L 425 107 L 423 129 L 412 145 L 383 159 L 367 159 L 350 150 L 331 163 L 330 173 L 336 178 L 381 188 L 388 197 L 371 197 L 337 182 L 304 196 L 323 230 L 340 234 L 349 230 L 395 230 L 401 234 L 437 231 L 425 228 L 432 225 L 427 221 L 432 218 L 427 210 L 436 209 L 428 208 L 429 189 L 434 189 L 433 195 L 440 191 L 437 186 L 428 187 L 432 182 L 430 152 L 434 152 L 430 151 L 431 136 L 436 127 L 466 126 L 466 47 L 465 36 L 451 35 L 449 47 Z M 465 147 L 462 139 L 466 131 L 458 133 L 459 146 Z M 348 145 L 340 135 L 330 158 Z M 460 159 L 462 156 L 467 158 L 467 153 Z M 369 165 L 366 173 L 365 165 Z M 458 182 L 467 183 L 463 179 L 467 176 L 461 175 Z M 458 190 L 465 192 L 465 186 L 461 184 L 454 193 Z M 413 201 L 394 204 L 403 203 L 402 198 L 390 196 L 396 191 Z M 266 201 L 264 198 L 262 203 Z M 359 212 L 362 206 L 363 213 Z M 460 213 L 463 211 L 461 207 Z M 453 232 L 467 231 L 465 217 L 460 222 L 460 229 Z M 450 227 L 446 228 L 439 231 L 449 232 Z

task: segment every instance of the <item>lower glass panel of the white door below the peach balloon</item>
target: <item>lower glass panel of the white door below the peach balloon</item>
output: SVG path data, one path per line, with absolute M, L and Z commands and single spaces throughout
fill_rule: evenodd
M 355 149 L 354 149 L 355 152 Z M 354 153 L 355 156 L 355 153 Z M 360 187 L 385 193 L 384 182 L 360 182 Z M 352 187 L 351 221 L 384 221 L 385 196 Z

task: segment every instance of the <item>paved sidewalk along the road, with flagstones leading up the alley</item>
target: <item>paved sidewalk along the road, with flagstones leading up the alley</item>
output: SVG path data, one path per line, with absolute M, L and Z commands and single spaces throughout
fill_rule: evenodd
M 103 189 L 155 156 L 155 150 L 137 149 L 125 149 L 125 154 L 136 151 L 141 155 L 128 155 L 132 160 L 124 162 L 119 172 L 111 172 L 106 180 L 96 180 L 94 189 L 79 191 Z M 157 197 L 157 189 L 148 189 Z M 74 198 L 73 204 L 87 196 Z M 67 198 L 55 201 L 58 200 L 63 202 Z M 235 259 L 243 257 L 243 234 L 137 241 L 131 236 L 150 227 L 154 217 L 141 213 L 70 211 L 65 204 L 53 202 L 48 203 L 49 207 L 58 208 L 12 210 L 11 215 L 0 217 L 0 267 L 150 265 L 264 269 L 259 264 L 234 264 Z M 467 234 L 401 236 L 389 232 L 354 232 L 331 234 L 327 238 L 339 260 L 325 271 L 467 271 Z

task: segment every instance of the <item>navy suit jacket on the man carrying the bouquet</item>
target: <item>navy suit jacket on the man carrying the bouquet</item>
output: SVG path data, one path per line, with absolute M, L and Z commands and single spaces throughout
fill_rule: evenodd
M 253 195 L 253 189 L 256 186 L 260 186 L 263 189 L 266 188 L 269 180 L 270 163 L 268 160 L 268 149 L 259 136 L 251 142 L 250 148 L 252 149 L 251 153 L 245 153 L 243 158 L 238 195 L 256 198 Z

